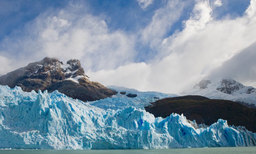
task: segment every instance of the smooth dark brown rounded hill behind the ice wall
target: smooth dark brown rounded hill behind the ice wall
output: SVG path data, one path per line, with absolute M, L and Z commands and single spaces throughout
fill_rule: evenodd
M 171 113 L 183 113 L 187 119 L 206 125 L 225 119 L 229 125 L 245 126 L 246 129 L 256 132 L 256 109 L 247 108 L 237 102 L 188 95 L 164 98 L 151 104 L 145 110 L 155 117 L 165 118 Z

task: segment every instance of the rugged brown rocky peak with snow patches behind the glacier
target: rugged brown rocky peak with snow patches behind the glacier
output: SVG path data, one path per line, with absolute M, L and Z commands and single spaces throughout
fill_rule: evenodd
M 49 57 L 1 76 L 0 84 L 11 88 L 20 86 L 26 92 L 58 90 L 82 101 L 94 101 L 117 94 L 98 82 L 90 81 L 79 60 L 69 60 L 64 65 L 58 59 Z

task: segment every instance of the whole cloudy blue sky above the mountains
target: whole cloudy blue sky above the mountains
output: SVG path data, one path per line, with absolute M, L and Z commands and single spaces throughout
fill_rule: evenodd
M 256 87 L 256 0 L 1 0 L 0 21 L 0 75 L 49 56 L 140 91 Z

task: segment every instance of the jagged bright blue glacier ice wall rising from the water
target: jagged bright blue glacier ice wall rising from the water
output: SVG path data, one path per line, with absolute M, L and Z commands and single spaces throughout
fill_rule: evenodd
M 196 129 L 183 115 L 164 119 L 135 107 L 103 110 L 57 91 L 0 86 L 0 143 L 24 149 L 253 146 L 256 133 L 222 119 Z

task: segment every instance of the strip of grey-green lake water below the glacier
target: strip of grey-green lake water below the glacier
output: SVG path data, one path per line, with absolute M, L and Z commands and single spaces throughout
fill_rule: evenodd
M 0 150 L 0 154 L 256 154 L 253 147 L 210 147 L 178 149 L 129 149 L 129 150 Z

